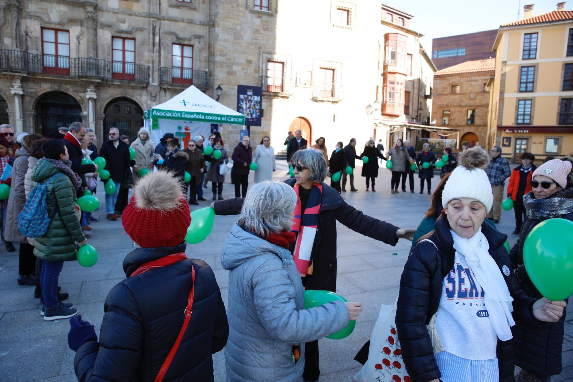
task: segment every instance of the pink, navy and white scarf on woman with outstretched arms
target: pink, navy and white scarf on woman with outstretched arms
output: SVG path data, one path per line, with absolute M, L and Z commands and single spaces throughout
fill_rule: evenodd
M 293 259 L 301 276 L 312 275 L 312 245 L 315 242 L 316 229 L 319 224 L 322 186 L 315 183 L 308 196 L 307 207 L 301 211 L 299 184 L 295 184 L 296 206 L 292 221 L 292 232 L 298 232 Z

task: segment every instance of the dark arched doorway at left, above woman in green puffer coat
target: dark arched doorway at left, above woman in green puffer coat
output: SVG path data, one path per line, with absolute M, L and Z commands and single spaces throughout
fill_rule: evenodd
M 58 127 L 82 122 L 81 106 L 75 98 L 64 92 L 48 92 L 36 102 L 36 132 L 48 137 Z

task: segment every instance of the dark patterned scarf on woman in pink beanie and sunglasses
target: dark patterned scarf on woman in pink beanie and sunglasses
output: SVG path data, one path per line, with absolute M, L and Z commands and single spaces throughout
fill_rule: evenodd
M 573 212 L 573 188 L 566 188 L 555 194 L 536 199 L 533 191 L 523 196 L 523 205 L 529 219 L 551 219 Z

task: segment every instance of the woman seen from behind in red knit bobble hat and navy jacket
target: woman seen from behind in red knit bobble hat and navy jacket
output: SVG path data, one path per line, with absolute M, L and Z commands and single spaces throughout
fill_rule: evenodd
M 227 315 L 213 270 L 185 255 L 191 216 L 176 178 L 140 178 L 121 223 L 139 248 L 105 299 L 100 341 L 81 316 L 70 319 L 77 379 L 213 381 L 211 354 L 227 343 Z

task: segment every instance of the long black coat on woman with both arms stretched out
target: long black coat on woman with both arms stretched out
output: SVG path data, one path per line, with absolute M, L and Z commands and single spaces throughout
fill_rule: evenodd
M 286 180 L 289 186 L 295 185 L 295 178 Z M 313 273 L 306 277 L 306 288 L 336 291 L 336 220 L 352 229 L 386 244 L 396 245 L 398 227 L 364 215 L 348 205 L 335 189 L 324 182 L 323 198 L 320 205 L 319 224 L 312 247 Z M 215 215 L 237 215 L 241 212 L 242 198 L 215 202 Z

